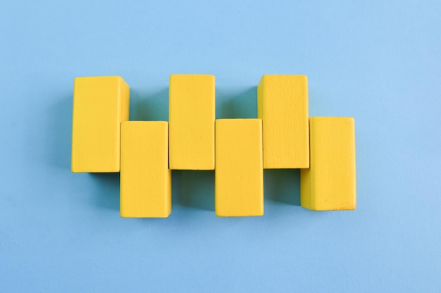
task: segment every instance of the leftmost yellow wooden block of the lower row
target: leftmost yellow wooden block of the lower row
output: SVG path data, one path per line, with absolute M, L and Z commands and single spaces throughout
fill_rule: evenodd
M 121 125 L 120 215 L 166 218 L 171 212 L 168 123 L 128 121 Z

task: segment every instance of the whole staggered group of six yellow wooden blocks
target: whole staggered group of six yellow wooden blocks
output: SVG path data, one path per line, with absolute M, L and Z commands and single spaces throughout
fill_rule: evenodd
M 263 215 L 263 169 L 301 168 L 301 204 L 356 206 L 354 119 L 311 117 L 304 75 L 263 75 L 258 119 L 216 119 L 213 75 L 170 75 L 169 120 L 128 121 L 121 77 L 77 77 L 72 171 L 120 172 L 120 215 L 167 217 L 171 170 L 216 170 L 216 216 Z

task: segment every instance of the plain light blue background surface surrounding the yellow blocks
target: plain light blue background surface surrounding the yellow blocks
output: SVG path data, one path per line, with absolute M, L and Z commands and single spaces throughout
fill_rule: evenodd
M 440 1 L 1 1 L 0 292 L 441 292 Z M 357 209 L 216 218 L 213 171 L 173 171 L 166 219 L 119 216 L 118 174 L 70 173 L 73 79 L 120 75 L 168 120 L 172 73 L 216 75 L 217 118 L 263 74 L 309 77 L 310 116 L 354 116 Z

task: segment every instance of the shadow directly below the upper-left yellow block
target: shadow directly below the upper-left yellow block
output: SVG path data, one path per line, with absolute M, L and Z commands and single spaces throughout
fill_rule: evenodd
M 120 173 L 89 173 L 97 187 L 94 199 L 100 208 L 119 211 Z

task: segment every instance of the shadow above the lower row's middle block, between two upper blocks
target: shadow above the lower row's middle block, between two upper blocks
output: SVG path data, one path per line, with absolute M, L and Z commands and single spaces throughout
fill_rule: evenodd
M 257 118 L 257 87 L 231 94 L 231 92 L 216 89 L 216 118 Z

